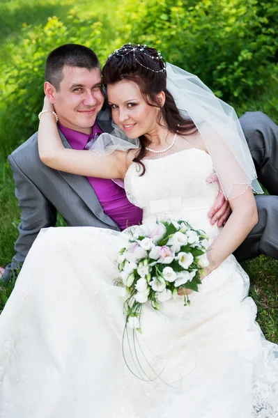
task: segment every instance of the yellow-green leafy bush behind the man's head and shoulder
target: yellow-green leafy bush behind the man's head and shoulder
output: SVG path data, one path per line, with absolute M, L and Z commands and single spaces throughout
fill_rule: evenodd
M 26 141 L 38 127 L 38 112 L 43 106 L 45 60 L 52 49 L 65 43 L 91 47 L 104 60 L 108 52 L 103 25 L 91 15 L 80 20 L 72 14 L 65 22 L 57 17 L 45 26 L 22 29 L 22 40 L 13 52 L 13 66 L 1 69 L 0 148 L 4 155 Z

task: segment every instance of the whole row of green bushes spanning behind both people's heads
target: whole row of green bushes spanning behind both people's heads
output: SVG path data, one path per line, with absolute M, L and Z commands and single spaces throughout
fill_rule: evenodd
M 96 14 L 81 20 L 73 12 L 63 23 L 52 17 L 45 26 L 26 25 L 20 45 L 6 50 L 7 56 L 13 55 L 13 66 L 0 68 L 1 151 L 7 155 L 36 130 L 45 59 L 63 43 L 92 47 L 102 62 L 124 42 L 148 43 L 161 49 L 167 61 L 199 75 L 217 95 L 245 110 L 250 98 L 262 95 L 266 82 L 272 80 L 278 90 L 277 21 L 277 7 L 269 1 L 144 0 L 135 8 L 134 0 L 123 0 L 113 27 L 103 16 L 102 22 Z M 272 86 L 269 90 L 261 109 L 273 117 L 278 95 Z

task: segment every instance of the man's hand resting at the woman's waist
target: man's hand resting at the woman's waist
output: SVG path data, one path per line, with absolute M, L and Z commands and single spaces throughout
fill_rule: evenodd
M 231 215 L 231 207 L 229 201 L 226 201 L 224 194 L 222 193 L 221 186 L 216 174 L 209 176 L 207 179 L 208 183 L 217 183 L 219 192 L 213 207 L 208 212 L 208 217 L 210 218 L 210 224 L 214 225 L 217 222 L 217 226 L 224 226 L 227 219 Z

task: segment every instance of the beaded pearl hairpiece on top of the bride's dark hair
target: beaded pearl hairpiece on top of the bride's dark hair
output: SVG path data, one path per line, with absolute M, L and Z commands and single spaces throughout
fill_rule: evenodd
M 150 55 L 150 52 L 153 52 L 153 55 Z M 148 56 L 150 59 L 153 59 L 154 61 L 157 61 L 157 63 L 160 63 L 162 65 L 162 68 L 160 70 L 153 70 L 153 68 L 146 67 L 146 65 L 140 63 L 139 61 L 139 54 L 144 54 Z M 147 45 L 140 45 L 140 44 L 132 44 L 131 42 L 123 45 L 123 47 L 119 49 L 115 49 L 112 54 L 108 56 L 108 59 L 111 58 L 111 56 L 118 55 L 118 56 L 125 56 L 127 54 L 133 54 L 134 60 L 139 63 L 142 67 L 146 68 L 147 70 L 153 71 L 153 72 L 166 72 L 166 63 L 164 59 L 162 58 L 161 54 L 157 49 L 147 47 Z

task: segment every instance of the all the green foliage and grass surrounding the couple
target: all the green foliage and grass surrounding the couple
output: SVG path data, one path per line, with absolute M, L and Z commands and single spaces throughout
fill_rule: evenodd
M 277 26 L 270 0 L 1 0 L 0 265 L 13 256 L 20 222 L 6 157 L 38 127 L 52 49 L 81 43 L 104 63 L 125 42 L 146 43 L 199 75 L 239 116 L 261 110 L 278 122 Z M 261 256 L 244 267 L 263 332 L 277 341 L 278 263 Z M 0 309 L 12 287 L 0 291 Z

